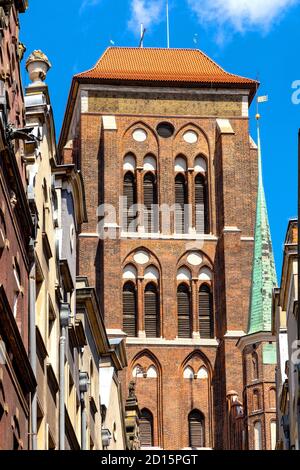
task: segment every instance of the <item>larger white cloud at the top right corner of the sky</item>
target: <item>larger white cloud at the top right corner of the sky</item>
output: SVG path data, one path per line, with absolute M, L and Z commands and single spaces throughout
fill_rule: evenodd
M 199 20 L 231 24 L 236 31 L 270 29 L 288 8 L 300 0 L 187 0 Z

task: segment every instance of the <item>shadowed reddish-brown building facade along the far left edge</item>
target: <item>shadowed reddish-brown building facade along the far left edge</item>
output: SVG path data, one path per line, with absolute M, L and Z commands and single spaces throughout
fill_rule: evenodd
M 0 5 L 0 449 L 30 447 L 36 381 L 28 359 L 29 273 L 34 224 L 26 198 L 25 108 L 19 14 L 27 1 Z

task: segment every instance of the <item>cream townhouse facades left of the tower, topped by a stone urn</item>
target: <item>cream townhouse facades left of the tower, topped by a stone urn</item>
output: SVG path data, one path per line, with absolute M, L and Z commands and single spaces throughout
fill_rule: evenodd
M 25 162 L 35 220 L 29 305 L 37 389 L 31 403 L 31 448 L 100 450 L 105 444 L 122 450 L 127 446 L 118 379 L 127 365 L 123 340 L 116 348 L 110 344 L 95 291 L 88 279 L 77 278 L 77 235 L 87 221 L 85 195 L 80 172 L 57 162 L 45 83 L 51 64 L 42 51 L 34 51 L 26 66 L 31 79 L 26 124 L 31 134 Z M 114 384 L 107 390 L 100 380 L 103 362 Z M 106 413 L 102 394 L 107 397 Z

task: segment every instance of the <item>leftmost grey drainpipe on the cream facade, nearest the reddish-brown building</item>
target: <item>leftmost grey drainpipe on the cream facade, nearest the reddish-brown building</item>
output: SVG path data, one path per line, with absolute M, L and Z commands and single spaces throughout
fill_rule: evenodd
M 36 265 L 34 253 L 35 241 L 30 240 L 32 265 L 29 274 L 29 360 L 34 376 L 36 377 L 36 331 L 35 331 L 35 304 L 36 304 Z M 37 389 L 31 394 L 30 417 L 31 450 L 37 450 Z

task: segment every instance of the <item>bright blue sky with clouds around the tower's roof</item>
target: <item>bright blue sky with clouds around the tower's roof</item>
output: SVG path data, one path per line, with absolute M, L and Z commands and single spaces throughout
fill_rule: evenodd
M 91 68 L 112 42 L 137 46 L 140 23 L 145 46 L 166 46 L 166 0 L 29 0 L 21 16 L 26 57 L 42 49 L 57 138 L 72 76 Z M 171 47 L 197 47 L 229 72 L 258 78 L 264 183 L 278 276 L 288 219 L 297 215 L 297 133 L 300 104 L 292 83 L 300 80 L 300 0 L 169 0 Z M 23 62 L 23 66 L 25 61 Z M 24 83 L 28 83 L 24 73 Z M 297 95 L 300 97 L 300 93 Z M 297 100 L 300 101 L 300 100 Z M 256 138 L 255 106 L 251 133 Z

